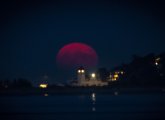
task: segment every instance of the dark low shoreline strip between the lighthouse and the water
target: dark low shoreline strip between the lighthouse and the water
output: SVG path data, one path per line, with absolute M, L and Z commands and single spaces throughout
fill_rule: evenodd
M 60 87 L 60 88 L 22 88 L 22 89 L 1 89 L 0 96 L 24 96 L 24 95 L 82 95 L 82 94 L 153 94 L 165 93 L 165 88 L 150 87 L 150 88 L 78 88 L 78 87 Z

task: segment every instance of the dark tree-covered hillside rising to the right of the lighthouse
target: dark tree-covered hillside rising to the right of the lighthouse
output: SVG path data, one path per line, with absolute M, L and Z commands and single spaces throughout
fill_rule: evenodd
M 165 53 L 155 56 L 133 56 L 132 62 L 123 64 L 111 70 L 124 71 L 119 79 L 112 84 L 120 86 L 165 86 Z

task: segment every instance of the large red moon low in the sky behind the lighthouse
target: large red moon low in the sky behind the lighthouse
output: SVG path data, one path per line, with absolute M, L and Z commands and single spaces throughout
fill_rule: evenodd
M 95 50 L 84 43 L 70 43 L 62 47 L 56 57 L 57 65 L 62 68 L 84 66 L 94 67 L 98 63 Z

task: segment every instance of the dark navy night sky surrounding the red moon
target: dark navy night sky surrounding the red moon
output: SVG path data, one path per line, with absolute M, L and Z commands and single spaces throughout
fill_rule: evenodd
M 133 54 L 165 51 L 163 0 L 77 1 L 1 2 L 0 79 L 71 79 L 74 70 L 56 66 L 58 50 L 71 42 L 93 47 L 97 67 L 108 69 Z

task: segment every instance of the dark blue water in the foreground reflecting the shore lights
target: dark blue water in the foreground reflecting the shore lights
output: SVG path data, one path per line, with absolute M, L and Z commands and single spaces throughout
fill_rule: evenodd
M 165 93 L 1 96 L 0 120 L 165 120 Z

